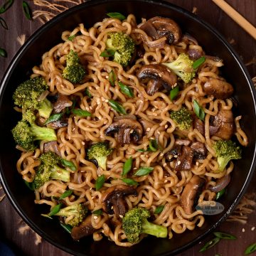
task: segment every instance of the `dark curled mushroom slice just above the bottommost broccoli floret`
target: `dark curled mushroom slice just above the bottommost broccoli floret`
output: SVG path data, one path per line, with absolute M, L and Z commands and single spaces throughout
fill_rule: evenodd
M 107 188 L 102 195 L 102 208 L 108 214 L 124 216 L 128 210 L 124 196 L 137 196 L 137 190 L 131 186 L 117 185 Z

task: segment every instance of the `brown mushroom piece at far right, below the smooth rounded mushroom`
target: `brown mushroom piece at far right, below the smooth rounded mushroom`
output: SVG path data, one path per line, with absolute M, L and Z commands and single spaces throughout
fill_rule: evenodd
M 213 119 L 213 126 L 219 127 L 215 135 L 221 139 L 230 139 L 234 132 L 234 117 L 231 110 L 219 110 Z

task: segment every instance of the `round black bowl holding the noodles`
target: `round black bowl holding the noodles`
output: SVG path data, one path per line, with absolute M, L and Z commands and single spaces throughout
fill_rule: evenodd
M 139 245 L 129 248 L 118 247 L 107 239 L 93 242 L 92 238 L 85 238 L 80 242 L 74 242 L 57 222 L 41 217 L 41 213 L 46 209 L 42 210 L 42 206 L 33 204 L 34 194 L 28 191 L 16 171 L 16 160 L 19 153 L 14 149 L 15 144 L 10 132 L 19 116 L 13 109 L 14 103 L 11 95 L 16 86 L 28 78 L 33 65 L 41 63 L 41 55 L 61 41 L 60 36 L 63 31 L 71 30 L 78 23 L 85 23 L 85 26 L 90 28 L 96 21 L 105 18 L 106 13 L 110 11 L 119 11 L 124 15 L 135 14 L 138 21 L 141 17 L 173 18 L 181 26 L 183 32 L 190 33 L 198 39 L 206 53 L 222 58 L 225 66 L 221 70 L 224 77 L 234 85 L 235 98 L 239 102 L 236 114 L 242 114 L 242 128 L 249 137 L 249 145 L 243 150 L 242 159 L 235 162 L 235 170 L 228 186 L 228 193 L 223 201 L 220 201 L 225 206 L 223 213 L 210 216 L 210 218 L 206 216 L 203 227 L 181 235 L 174 235 L 171 240 L 150 237 L 142 240 Z M 256 139 L 255 91 L 252 87 L 245 66 L 227 41 L 215 29 L 188 11 L 163 1 L 149 0 L 96 0 L 75 6 L 53 18 L 29 38 L 12 60 L 1 82 L 0 161 L 1 182 L 4 190 L 14 208 L 36 233 L 53 245 L 74 255 L 171 255 L 181 252 L 202 240 L 204 235 L 210 233 L 227 218 L 250 182 L 255 169 Z

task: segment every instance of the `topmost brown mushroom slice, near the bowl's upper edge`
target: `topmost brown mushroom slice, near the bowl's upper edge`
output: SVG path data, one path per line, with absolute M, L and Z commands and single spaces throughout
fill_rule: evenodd
M 169 45 L 176 44 L 181 39 L 181 28 L 171 18 L 156 16 L 142 23 L 139 28 L 154 40 L 166 37 L 166 42 Z

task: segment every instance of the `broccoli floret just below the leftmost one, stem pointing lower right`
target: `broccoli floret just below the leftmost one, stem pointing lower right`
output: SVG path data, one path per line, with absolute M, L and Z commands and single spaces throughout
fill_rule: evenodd
M 61 157 L 52 151 L 42 154 L 39 159 L 41 164 L 38 166 L 36 176 L 33 180 L 36 188 L 40 188 L 44 183 L 52 179 L 69 182 L 70 171 L 61 168 Z

